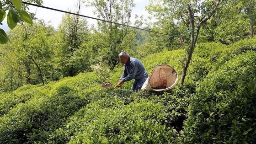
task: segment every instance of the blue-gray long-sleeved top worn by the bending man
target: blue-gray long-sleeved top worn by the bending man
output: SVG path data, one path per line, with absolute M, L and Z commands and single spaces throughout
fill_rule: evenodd
M 121 75 L 120 80 L 123 80 L 124 82 L 133 79 L 140 80 L 147 76 L 148 73 L 139 59 L 130 57 L 127 64 L 124 64 L 123 74 Z

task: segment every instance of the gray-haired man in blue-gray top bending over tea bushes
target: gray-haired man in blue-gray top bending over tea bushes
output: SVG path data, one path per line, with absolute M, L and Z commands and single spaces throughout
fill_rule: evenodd
M 149 77 L 144 65 L 139 61 L 139 59 L 130 57 L 127 52 L 120 53 L 119 59 L 124 64 L 124 69 L 116 87 L 120 87 L 124 82 L 134 79 L 133 91 L 140 90 L 144 82 Z

